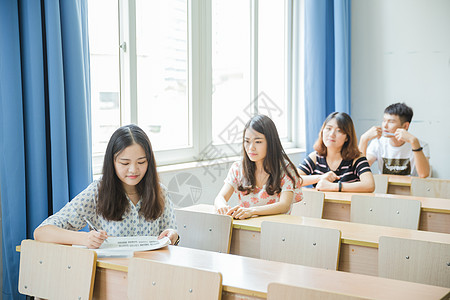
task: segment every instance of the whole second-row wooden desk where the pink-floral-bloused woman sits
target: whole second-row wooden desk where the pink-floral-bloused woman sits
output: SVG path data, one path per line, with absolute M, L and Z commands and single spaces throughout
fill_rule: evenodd
M 183 209 L 214 213 L 214 206 L 208 204 L 198 204 Z M 373 276 L 378 275 L 378 240 L 380 236 L 450 244 L 450 234 L 444 233 L 291 215 L 272 215 L 233 220 L 230 253 L 259 258 L 261 223 L 263 221 L 339 229 L 341 231 L 339 271 Z

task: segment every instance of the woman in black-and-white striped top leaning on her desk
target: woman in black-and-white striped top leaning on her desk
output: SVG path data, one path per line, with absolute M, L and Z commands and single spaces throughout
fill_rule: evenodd
M 314 150 L 299 166 L 303 185 L 313 184 L 320 191 L 374 191 L 369 163 L 359 152 L 348 114 L 334 112 L 325 119 Z

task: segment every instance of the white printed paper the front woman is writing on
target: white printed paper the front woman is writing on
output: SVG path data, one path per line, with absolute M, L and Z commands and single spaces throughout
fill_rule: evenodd
M 149 251 L 170 245 L 170 239 L 156 236 L 108 237 L 98 249 L 97 257 L 132 257 L 135 251 Z

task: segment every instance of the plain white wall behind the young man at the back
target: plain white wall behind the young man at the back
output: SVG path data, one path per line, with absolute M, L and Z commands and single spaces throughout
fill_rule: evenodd
M 433 177 L 450 178 L 450 1 L 352 1 L 352 118 L 358 136 L 386 106 L 414 109 Z

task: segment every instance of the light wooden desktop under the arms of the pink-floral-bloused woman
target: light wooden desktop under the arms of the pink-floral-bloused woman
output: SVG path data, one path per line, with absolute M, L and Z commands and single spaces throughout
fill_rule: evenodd
M 214 206 L 209 204 L 198 204 L 183 209 L 214 213 Z M 259 232 L 261 231 L 261 223 L 263 221 L 335 228 L 339 229 L 342 233 L 342 243 L 374 248 L 378 248 L 378 240 L 380 236 L 383 235 L 450 244 L 450 234 L 445 233 L 359 224 L 336 220 L 306 218 L 291 215 L 271 215 L 255 217 L 246 220 L 233 220 L 233 229 Z

